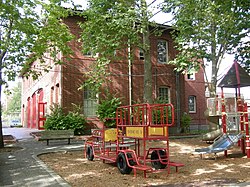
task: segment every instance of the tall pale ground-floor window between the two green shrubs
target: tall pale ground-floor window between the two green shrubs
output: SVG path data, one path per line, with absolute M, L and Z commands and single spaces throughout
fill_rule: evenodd
M 95 117 L 98 103 L 96 92 L 90 90 L 88 87 L 84 87 L 83 95 L 84 115 L 87 117 Z

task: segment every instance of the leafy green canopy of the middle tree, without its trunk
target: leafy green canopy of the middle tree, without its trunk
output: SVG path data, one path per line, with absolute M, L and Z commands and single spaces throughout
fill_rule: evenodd
M 89 8 L 84 11 L 86 21 L 80 23 L 83 53 L 98 55 L 91 71 L 85 76 L 84 86 L 98 91 L 109 75 L 107 66 L 116 58 L 116 51 L 124 50 L 129 43 L 138 40 L 135 25 L 134 1 L 89 0 Z

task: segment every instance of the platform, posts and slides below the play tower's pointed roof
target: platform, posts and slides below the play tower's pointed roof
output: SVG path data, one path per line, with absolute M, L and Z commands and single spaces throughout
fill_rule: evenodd
M 219 116 L 222 124 L 221 128 L 202 136 L 203 141 L 213 142 L 213 144 L 206 148 L 195 149 L 195 152 L 199 154 L 216 154 L 224 151 L 224 155 L 227 156 L 227 150 L 238 143 L 241 146 L 242 153 L 245 154 L 244 137 L 249 133 L 248 107 L 247 103 L 244 102 L 242 106 L 242 101 L 244 101 L 242 96 L 241 98 L 235 98 L 232 94 L 226 94 L 225 97 L 223 92 L 221 95 L 217 95 L 216 98 L 208 100 L 209 114 Z M 248 151 L 247 148 L 246 150 Z

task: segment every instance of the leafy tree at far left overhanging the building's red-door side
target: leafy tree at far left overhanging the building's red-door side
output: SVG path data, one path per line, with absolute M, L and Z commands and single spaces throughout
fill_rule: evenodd
M 71 10 L 61 6 L 65 1 L 4 0 L 0 2 L 0 94 L 2 85 L 21 72 L 38 76 L 48 71 L 46 58 L 62 63 L 58 52 L 69 54 L 67 42 L 73 37 L 62 24 Z M 49 55 L 48 55 L 49 54 Z M 39 60 L 42 69 L 30 64 Z M 0 95 L 1 101 L 1 95 Z M 3 147 L 2 110 L 0 109 L 0 147 Z

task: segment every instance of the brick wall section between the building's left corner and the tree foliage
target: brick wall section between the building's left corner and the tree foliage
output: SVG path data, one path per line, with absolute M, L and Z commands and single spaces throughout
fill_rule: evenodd
M 83 90 L 79 88 L 83 85 L 83 73 L 87 71 L 88 66 L 94 60 L 91 57 L 82 55 L 82 46 L 78 42 L 80 36 L 80 28 L 78 22 L 82 22 L 83 18 L 72 16 L 64 19 L 64 23 L 68 25 L 72 34 L 76 36 L 75 40 L 69 43 L 74 51 L 70 56 L 71 60 L 62 66 L 62 107 L 65 112 L 72 110 L 73 104 L 83 105 Z

